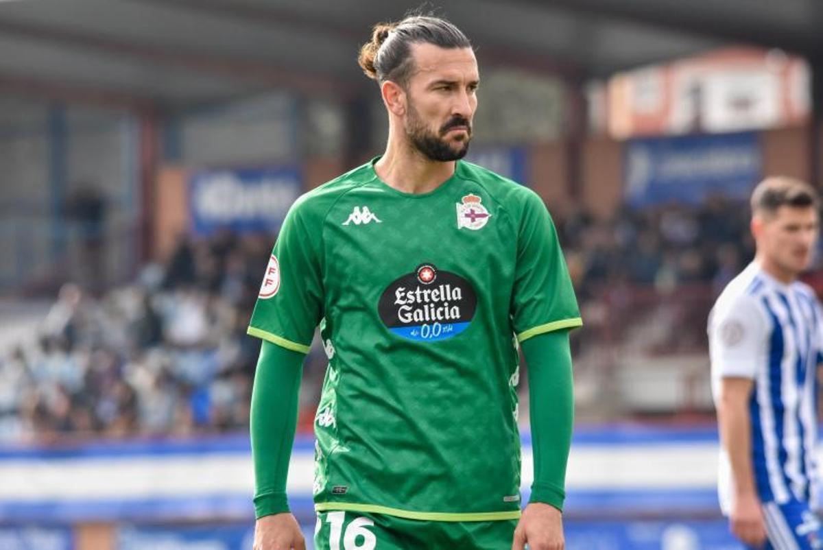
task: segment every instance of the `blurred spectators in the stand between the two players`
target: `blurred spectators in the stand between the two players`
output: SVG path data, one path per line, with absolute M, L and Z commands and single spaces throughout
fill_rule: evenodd
M 749 209 L 720 195 L 700 206 L 631 209 L 611 220 L 573 210 L 557 220 L 579 301 L 616 285 L 677 287 L 709 283 L 718 293 L 754 257 Z

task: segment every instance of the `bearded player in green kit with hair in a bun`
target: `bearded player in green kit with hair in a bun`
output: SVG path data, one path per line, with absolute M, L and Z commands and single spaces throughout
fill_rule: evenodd
M 318 550 L 564 548 L 568 333 L 582 321 L 551 217 L 530 189 L 460 160 L 479 75 L 457 27 L 375 26 L 360 66 L 388 110 L 386 151 L 291 207 L 249 327 L 264 340 L 254 548 L 305 548 L 286 473 L 318 325 Z M 518 345 L 534 454 L 522 514 Z

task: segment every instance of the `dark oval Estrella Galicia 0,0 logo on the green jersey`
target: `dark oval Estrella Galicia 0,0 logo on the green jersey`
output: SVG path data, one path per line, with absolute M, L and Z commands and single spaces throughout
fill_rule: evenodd
M 472 284 L 432 263 L 421 263 L 412 273 L 389 284 L 378 305 L 380 319 L 389 330 L 426 342 L 462 333 L 476 309 Z

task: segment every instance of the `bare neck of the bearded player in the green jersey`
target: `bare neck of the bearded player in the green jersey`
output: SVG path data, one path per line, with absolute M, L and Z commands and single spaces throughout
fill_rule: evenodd
M 402 193 L 414 194 L 434 191 L 452 177 L 454 170 L 455 161 L 432 161 L 411 145 L 391 140 L 384 156 L 374 164 L 374 171 L 385 184 Z

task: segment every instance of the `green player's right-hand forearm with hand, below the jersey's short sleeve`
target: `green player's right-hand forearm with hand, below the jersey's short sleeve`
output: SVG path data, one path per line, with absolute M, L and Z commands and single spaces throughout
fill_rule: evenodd
M 569 330 L 538 334 L 523 342 L 528 364 L 532 426 L 532 496 L 517 529 L 513 550 L 561 550 L 565 471 L 574 424 Z

